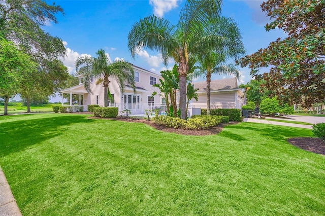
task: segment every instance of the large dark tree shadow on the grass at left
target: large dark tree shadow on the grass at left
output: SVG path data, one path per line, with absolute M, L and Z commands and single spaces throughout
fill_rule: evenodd
M 0 125 L 0 157 L 19 152 L 52 137 L 61 135 L 67 126 L 76 123 L 93 122 L 85 116 L 57 116 L 32 120 L 18 120 Z

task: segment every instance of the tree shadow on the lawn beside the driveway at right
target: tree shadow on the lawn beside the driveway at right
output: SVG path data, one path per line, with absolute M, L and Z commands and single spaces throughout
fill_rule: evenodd
M 269 136 L 276 141 L 286 140 L 288 137 L 301 137 L 312 135 L 311 130 L 308 129 L 257 123 L 243 123 L 238 125 L 230 125 L 228 126 L 228 128 L 256 131 L 256 136 Z

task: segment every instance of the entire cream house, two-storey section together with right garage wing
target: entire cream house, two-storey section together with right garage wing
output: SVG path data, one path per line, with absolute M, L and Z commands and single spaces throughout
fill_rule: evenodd
M 130 110 L 132 114 L 144 114 L 145 110 L 154 110 L 156 108 L 166 112 L 167 107 L 164 98 L 159 96 L 159 89 L 152 86 L 159 82 L 161 77 L 136 65 L 132 66 L 135 71 L 136 92 L 133 91 L 131 86 L 126 85 L 122 93 L 117 81 L 111 79 L 109 89 L 113 99 L 108 101 L 109 106 L 118 107 L 119 114 L 124 110 Z M 83 106 L 83 111 L 87 111 L 87 105 L 90 104 L 104 106 L 103 85 L 96 85 L 96 78 L 93 78 L 90 84 L 92 90 L 91 94 L 84 88 L 81 82 L 82 76 L 78 78 L 79 85 L 60 91 L 62 94 L 62 106 L 64 94 L 70 95 L 70 105 L 67 106 L 72 106 L 74 111 L 76 111 L 79 106 Z M 206 109 L 206 81 L 192 84 L 194 84 L 194 88 L 199 88 L 199 91 L 197 91 L 199 100 L 196 101 L 193 99 L 190 103 L 190 107 Z M 154 91 L 156 91 L 157 94 L 151 98 Z M 242 89 L 238 88 L 236 78 L 213 80 L 211 81 L 210 107 L 211 109 L 241 109 L 243 95 Z M 78 103 L 74 104 L 72 98 L 77 100 Z

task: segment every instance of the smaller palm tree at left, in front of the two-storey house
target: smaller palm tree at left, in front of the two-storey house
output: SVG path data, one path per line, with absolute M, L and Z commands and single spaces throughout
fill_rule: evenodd
M 110 79 L 116 79 L 120 87 L 121 92 L 124 91 L 125 84 L 127 83 L 136 91 L 135 81 L 134 81 L 134 70 L 130 63 L 125 61 L 115 61 L 110 62 L 107 57 L 105 50 L 100 49 L 96 52 L 97 57 L 82 56 L 77 58 L 75 65 L 76 70 L 80 66 L 79 73 L 84 75 L 83 84 L 85 89 L 92 93 L 90 89 L 91 77 L 99 77 L 96 81 L 96 85 L 103 84 L 104 86 L 104 106 L 108 106 L 108 96 L 111 98 L 111 93 L 109 90 Z

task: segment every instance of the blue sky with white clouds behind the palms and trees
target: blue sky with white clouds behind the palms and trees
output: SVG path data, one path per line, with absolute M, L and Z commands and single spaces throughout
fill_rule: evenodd
M 160 54 L 144 49 L 135 59 L 127 48 L 127 35 L 132 25 L 148 15 L 155 14 L 177 24 L 185 0 L 119 0 L 119 1 L 55 1 L 64 10 L 57 15 L 58 24 L 47 23 L 44 30 L 64 41 L 67 56 L 64 64 L 74 73 L 74 62 L 82 55 L 96 56 L 99 49 L 106 50 L 112 61 L 125 59 L 137 66 L 159 74 L 166 69 Z M 262 12 L 259 0 L 224 0 L 222 16 L 231 17 L 238 24 L 247 54 L 265 48 L 277 38 L 284 38 L 280 29 L 267 32 L 265 24 L 270 18 Z M 230 62 L 232 62 L 230 60 Z M 168 68 L 174 62 L 170 62 Z M 248 68 L 241 70 L 240 83 L 247 83 L 251 77 Z M 213 76 L 212 79 L 222 79 Z M 198 81 L 204 80 L 203 78 Z

